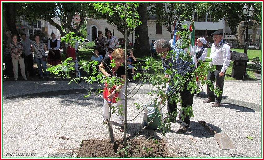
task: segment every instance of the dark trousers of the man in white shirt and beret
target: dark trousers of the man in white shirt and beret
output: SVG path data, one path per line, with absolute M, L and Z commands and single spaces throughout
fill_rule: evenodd
M 214 87 L 214 82 L 216 81 L 216 86 L 218 86 L 221 89 L 221 94 L 219 97 L 215 96 L 214 91 L 211 91 L 209 88 L 209 85 L 207 84 L 207 94 L 211 100 L 215 100 L 215 103 L 221 103 L 222 96 L 223 96 L 223 89 L 224 89 L 224 80 L 225 80 L 225 73 L 223 76 L 219 77 L 219 73 L 222 69 L 223 65 L 217 65 L 216 70 L 208 71 L 208 75 L 206 77 L 206 80 L 211 81 L 211 85 Z M 226 71 L 226 70 L 225 70 Z

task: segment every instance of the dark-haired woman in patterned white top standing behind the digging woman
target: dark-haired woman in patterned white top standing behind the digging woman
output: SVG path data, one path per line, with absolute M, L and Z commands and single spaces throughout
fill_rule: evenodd
M 119 47 L 119 42 L 116 39 L 115 36 L 112 35 L 110 30 L 105 31 L 105 42 L 104 42 L 104 50 L 106 50 L 106 56 L 108 56 L 108 49 L 112 48 L 115 50 L 117 47 Z

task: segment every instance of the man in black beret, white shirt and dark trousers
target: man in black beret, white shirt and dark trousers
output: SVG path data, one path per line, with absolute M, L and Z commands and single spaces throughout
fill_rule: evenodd
M 211 81 L 212 86 L 214 87 L 213 83 L 216 81 L 216 86 L 221 89 L 221 94 L 217 97 L 214 94 L 214 91 L 211 91 L 209 85 L 207 84 L 207 94 L 209 98 L 204 100 L 203 103 L 211 103 L 214 102 L 212 107 L 219 107 L 222 95 L 223 95 L 223 88 L 224 88 L 224 79 L 225 79 L 225 71 L 230 64 L 230 47 L 226 43 L 223 38 L 222 31 L 216 31 L 211 34 L 214 40 L 214 44 L 211 48 L 210 58 L 212 58 L 212 62 L 210 62 L 211 66 L 216 66 L 216 70 L 208 71 L 207 80 Z

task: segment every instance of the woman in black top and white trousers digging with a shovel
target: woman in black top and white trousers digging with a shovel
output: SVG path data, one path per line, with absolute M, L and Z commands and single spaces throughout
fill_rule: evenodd
M 112 68 L 110 66 L 111 64 L 111 59 L 114 60 L 115 66 Z M 116 76 L 120 78 L 120 85 L 116 86 L 115 90 L 110 93 L 109 97 L 113 97 L 116 93 L 118 93 L 118 98 L 119 100 L 117 101 L 117 106 L 121 106 L 121 114 L 119 113 L 119 123 L 122 124 L 120 127 L 120 132 L 124 132 L 124 114 L 125 114 L 125 89 L 123 88 L 125 85 L 125 65 L 123 64 L 125 61 L 125 56 L 124 56 L 124 50 L 119 48 L 115 49 L 114 52 L 112 53 L 111 57 L 106 56 L 103 61 L 101 62 L 99 69 L 102 72 L 102 74 L 105 77 L 112 77 Z M 123 64 L 123 66 L 121 66 Z M 103 105 L 103 123 L 107 123 L 107 118 L 109 118 L 108 115 L 108 101 L 104 100 L 104 105 Z

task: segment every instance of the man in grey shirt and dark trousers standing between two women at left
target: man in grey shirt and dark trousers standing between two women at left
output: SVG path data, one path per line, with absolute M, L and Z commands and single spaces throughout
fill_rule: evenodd
M 27 35 L 25 33 L 21 34 L 22 36 L 22 44 L 23 44 L 23 48 L 24 48 L 24 53 L 25 53 L 25 57 L 24 57 L 24 61 L 25 61 L 25 73 L 30 77 L 34 76 L 34 63 L 33 63 L 33 54 L 32 54 L 32 49 L 31 49 L 31 44 L 33 44 L 34 42 L 30 39 L 27 39 Z

